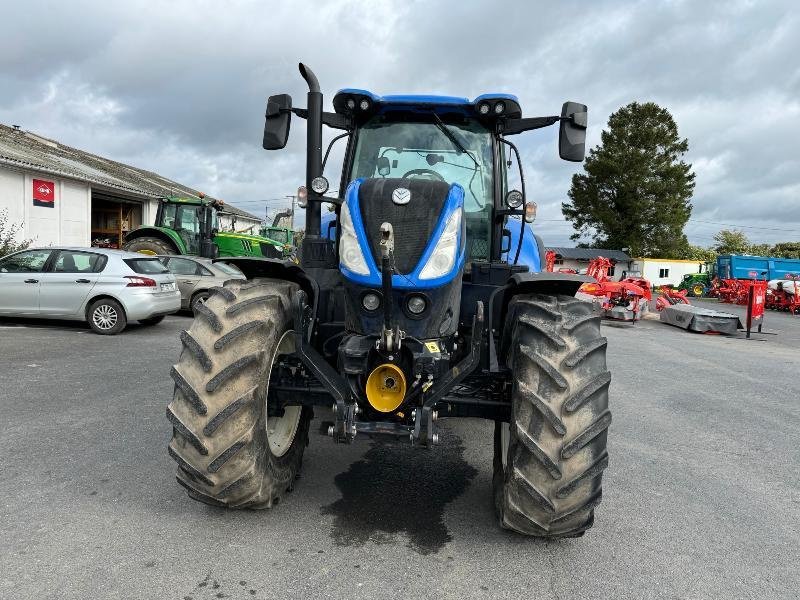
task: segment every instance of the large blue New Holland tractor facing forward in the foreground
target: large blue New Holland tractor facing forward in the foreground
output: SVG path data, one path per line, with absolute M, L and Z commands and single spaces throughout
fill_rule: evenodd
M 506 94 L 344 89 L 326 112 L 317 78 L 300 73 L 307 108 L 270 97 L 263 138 L 284 148 L 292 115 L 307 121 L 300 264 L 227 259 L 248 279 L 195 308 L 167 408 L 178 482 L 214 506 L 273 507 L 295 485 L 318 407 L 333 442 L 433 452 L 449 419 L 478 417 L 494 422 L 501 525 L 582 535 L 608 465 L 606 340 L 575 298 L 589 279 L 541 272 L 536 205 L 507 171 L 520 164 L 510 138 L 554 124 L 561 158 L 583 160 L 586 106 L 526 118 Z M 335 197 L 323 125 L 347 139 Z

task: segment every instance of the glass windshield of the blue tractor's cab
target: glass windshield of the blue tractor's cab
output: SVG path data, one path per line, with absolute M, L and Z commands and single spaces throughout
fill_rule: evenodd
M 459 184 L 465 192 L 470 258 L 488 260 L 493 198 L 492 134 L 477 121 L 442 125 L 458 144 L 434 121 L 391 121 L 376 117 L 367 122 L 358 132 L 350 179 L 401 177 Z

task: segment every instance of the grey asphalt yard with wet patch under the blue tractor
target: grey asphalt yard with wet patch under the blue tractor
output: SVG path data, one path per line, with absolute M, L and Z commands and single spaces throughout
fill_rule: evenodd
M 164 417 L 189 324 L 0 321 L 0 598 L 798 596 L 800 316 L 752 340 L 605 323 L 603 503 L 553 542 L 498 527 L 480 420 L 432 451 L 312 435 L 272 511 L 191 501 Z

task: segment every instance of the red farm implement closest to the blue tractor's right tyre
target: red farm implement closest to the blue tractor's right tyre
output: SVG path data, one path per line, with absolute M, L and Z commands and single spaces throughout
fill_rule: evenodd
M 580 291 L 596 298 L 605 317 L 636 322 L 653 298 L 650 282 L 640 277 L 612 281 L 608 278 L 612 266 L 613 263 L 603 256 L 590 261 L 586 274 L 597 283 L 585 283 Z

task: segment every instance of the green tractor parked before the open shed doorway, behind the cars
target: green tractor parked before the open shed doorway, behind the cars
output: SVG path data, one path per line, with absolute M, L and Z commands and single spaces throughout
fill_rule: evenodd
M 155 224 L 142 226 L 125 237 L 124 250 L 143 254 L 190 254 L 206 258 L 257 256 L 283 258 L 291 253 L 286 241 L 219 231 L 217 213 L 225 204 L 200 198 L 163 198 Z

